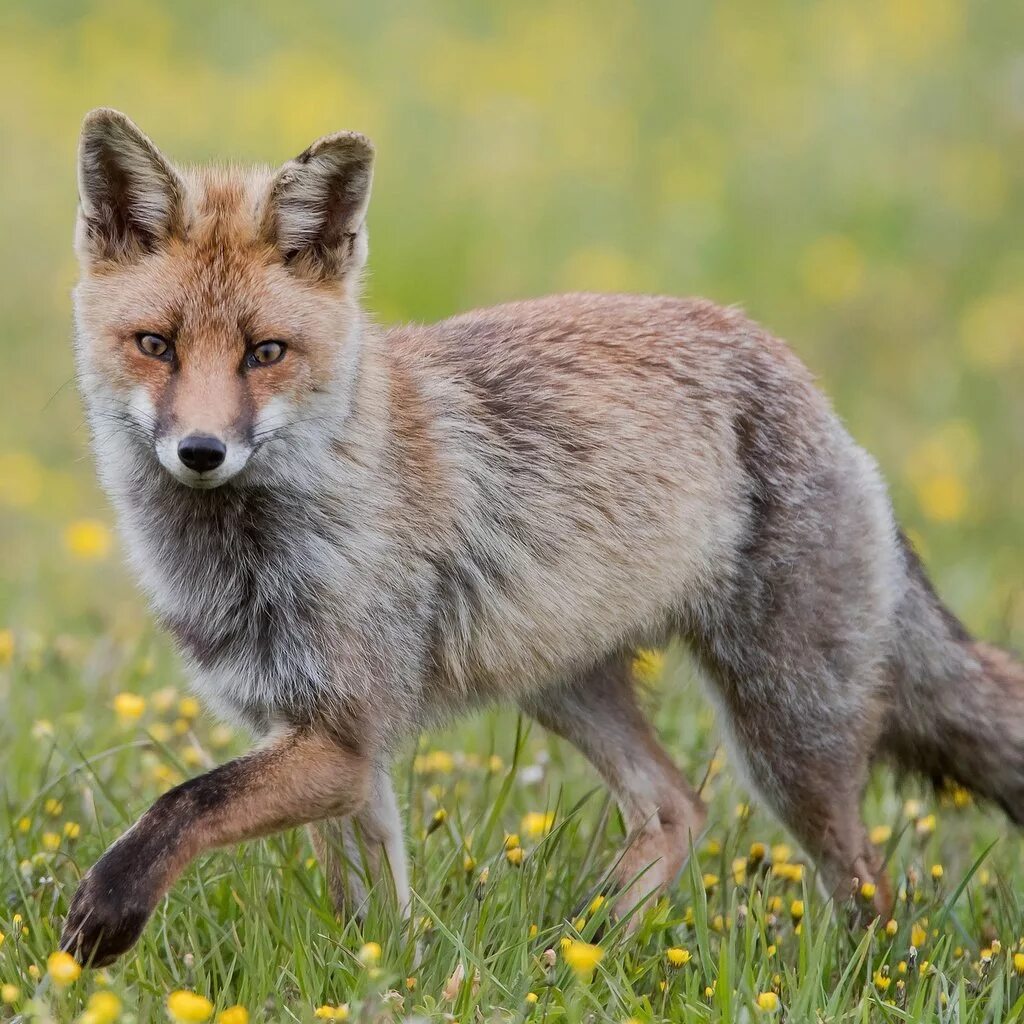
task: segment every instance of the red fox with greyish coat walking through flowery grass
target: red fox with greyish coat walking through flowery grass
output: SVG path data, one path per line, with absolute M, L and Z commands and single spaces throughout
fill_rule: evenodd
M 886 758 L 1024 820 L 1024 669 L 973 640 L 810 374 L 734 309 L 562 295 L 382 329 L 359 306 L 374 148 L 184 170 L 87 116 L 76 358 L 130 558 L 199 691 L 262 744 L 161 797 L 84 877 L 62 945 L 127 950 L 185 864 L 353 830 L 409 899 L 389 763 L 518 705 L 629 828 L 629 913 L 705 822 L 631 679 L 694 651 L 737 762 L 826 893 L 892 889 L 859 803 Z M 339 852 L 340 851 L 340 852 Z

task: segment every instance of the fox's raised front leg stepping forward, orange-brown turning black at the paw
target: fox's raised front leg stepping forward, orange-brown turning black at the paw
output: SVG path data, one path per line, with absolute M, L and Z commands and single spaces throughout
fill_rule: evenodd
M 195 857 L 219 846 L 359 810 L 372 761 L 303 728 L 161 797 L 82 879 L 60 948 L 101 967 L 135 944 Z

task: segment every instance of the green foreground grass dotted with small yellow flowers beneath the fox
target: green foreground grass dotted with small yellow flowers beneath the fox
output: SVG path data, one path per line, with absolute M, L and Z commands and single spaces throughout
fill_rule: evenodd
M 208 997 L 213 1014 L 241 1006 L 254 1022 L 332 1009 L 360 1021 L 996 1021 L 1024 1011 L 1022 868 L 1004 819 L 964 794 L 898 795 L 880 773 L 866 816 L 900 899 L 893 924 L 858 924 L 859 908 L 823 901 L 784 833 L 744 802 L 675 652 L 645 663 L 651 701 L 670 749 L 705 779 L 711 824 L 635 934 L 595 900 L 623 829 L 594 776 L 539 729 L 492 713 L 425 738 L 397 766 L 410 921 L 386 892 L 361 923 L 337 920 L 305 836 L 289 834 L 203 858 L 129 955 L 60 988 L 46 963 L 82 871 L 162 790 L 245 743 L 168 685 L 178 670 L 146 634 L 12 646 L 2 671 L 22 728 L 7 736 L 0 1019 L 95 1022 L 85 1007 L 108 990 L 139 1022 L 166 1019 L 178 990 Z M 592 973 L 581 963 L 595 958 L 591 944 Z M 210 1009 L 199 1006 L 185 1017 Z

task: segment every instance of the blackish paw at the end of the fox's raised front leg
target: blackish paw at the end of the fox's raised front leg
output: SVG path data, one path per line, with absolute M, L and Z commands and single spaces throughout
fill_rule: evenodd
M 138 901 L 137 892 L 104 882 L 96 867 L 82 879 L 71 901 L 60 948 L 82 964 L 105 967 L 135 944 L 151 907 Z

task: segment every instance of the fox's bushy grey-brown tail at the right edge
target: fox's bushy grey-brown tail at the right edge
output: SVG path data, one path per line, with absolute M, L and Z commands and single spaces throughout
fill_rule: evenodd
M 1024 665 L 968 633 L 902 541 L 907 590 L 885 752 L 936 785 L 957 782 L 994 801 L 1024 825 Z

